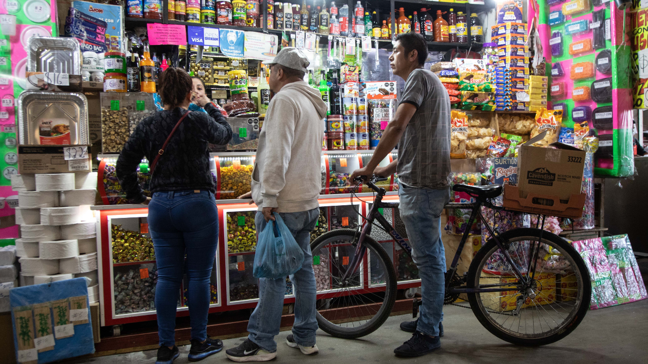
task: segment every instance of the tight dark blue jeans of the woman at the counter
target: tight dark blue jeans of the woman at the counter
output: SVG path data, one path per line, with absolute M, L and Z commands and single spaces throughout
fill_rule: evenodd
M 207 339 L 209 277 L 218 244 L 218 209 L 209 191 L 156 192 L 148 205 L 148 229 L 156 251 L 157 334 L 159 344 L 172 347 L 180 283 L 189 277 L 191 339 Z

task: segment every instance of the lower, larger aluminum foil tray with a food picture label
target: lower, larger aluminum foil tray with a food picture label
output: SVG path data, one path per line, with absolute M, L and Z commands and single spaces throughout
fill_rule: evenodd
M 19 144 L 90 144 L 87 98 L 81 93 L 25 91 L 17 109 Z

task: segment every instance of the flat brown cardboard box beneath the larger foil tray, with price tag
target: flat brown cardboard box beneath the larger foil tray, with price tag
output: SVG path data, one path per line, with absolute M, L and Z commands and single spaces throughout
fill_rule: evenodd
M 84 159 L 65 159 L 66 147 L 80 145 L 19 145 L 19 173 L 92 172 L 91 155 Z M 89 146 L 88 146 L 89 151 Z

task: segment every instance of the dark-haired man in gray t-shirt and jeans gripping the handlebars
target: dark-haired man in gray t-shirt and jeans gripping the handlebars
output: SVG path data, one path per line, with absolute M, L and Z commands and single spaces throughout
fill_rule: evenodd
M 394 74 L 406 80 L 394 119 L 382 133 L 371 161 L 358 176 L 399 175 L 400 217 L 412 247 L 411 256 L 421 277 L 421 317 L 400 328 L 413 332 L 394 350 L 400 356 L 421 356 L 441 347 L 445 250 L 441 241 L 441 212 L 450 201 L 450 97 L 439 78 L 422 69 L 428 47 L 421 34 L 396 37 L 389 62 Z M 399 144 L 400 143 L 400 144 Z M 399 144 L 399 159 L 378 163 Z

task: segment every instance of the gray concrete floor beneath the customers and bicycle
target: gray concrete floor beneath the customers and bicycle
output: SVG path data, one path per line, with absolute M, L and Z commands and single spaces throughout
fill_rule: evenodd
M 395 358 L 393 349 L 411 334 L 399 330 L 401 321 L 411 315 L 393 316 L 373 334 L 356 340 L 331 337 L 318 331 L 319 354 L 304 356 L 299 350 L 286 346 L 284 331 L 276 337 L 279 346 L 274 362 L 281 363 L 648 363 L 648 300 L 623 304 L 587 313 L 583 322 L 565 339 L 537 348 L 516 347 L 492 336 L 466 308 L 444 306 L 445 337 L 441 350 L 421 358 Z M 225 348 L 241 343 L 244 338 L 227 339 Z M 189 345 L 180 347 L 176 364 L 188 364 Z M 95 364 L 152 364 L 156 350 L 132 352 L 98 358 L 75 359 L 69 363 Z M 202 363 L 233 363 L 224 352 L 215 354 Z

